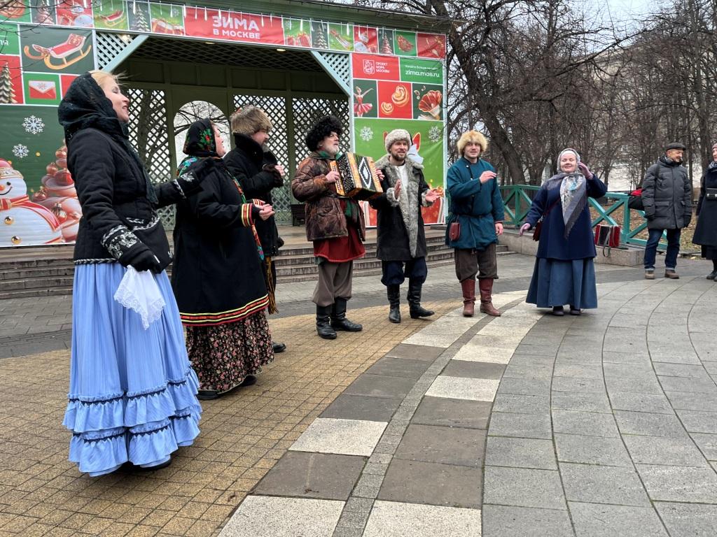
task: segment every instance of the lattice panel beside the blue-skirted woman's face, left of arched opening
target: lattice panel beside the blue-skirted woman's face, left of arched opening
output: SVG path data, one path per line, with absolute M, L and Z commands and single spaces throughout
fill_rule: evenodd
M 171 180 L 169 129 L 163 90 L 130 87 L 127 96 L 130 98 L 130 141 L 137 148 L 153 183 Z M 174 205 L 161 208 L 159 215 L 165 228 L 174 228 Z

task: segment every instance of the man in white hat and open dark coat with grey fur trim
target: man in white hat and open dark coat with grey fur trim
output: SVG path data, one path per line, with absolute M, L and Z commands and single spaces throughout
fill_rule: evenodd
M 429 190 L 423 166 L 407 156 L 412 143 L 407 130 L 392 130 L 384 142 L 389 153 L 376 163 L 384 174 L 381 181 L 384 193 L 369 203 L 379 212 L 376 257 L 381 259 L 381 283 L 388 294 L 389 321 L 399 323 L 400 287 L 406 276 L 411 318 L 433 315 L 433 311 L 421 306 L 421 289 L 428 274 L 421 207 L 432 205 L 440 194 Z

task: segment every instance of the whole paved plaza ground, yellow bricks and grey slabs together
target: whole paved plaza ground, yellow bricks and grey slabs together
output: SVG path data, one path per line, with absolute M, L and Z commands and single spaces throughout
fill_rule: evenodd
M 67 463 L 67 350 L 0 360 L 0 537 L 716 535 L 707 263 L 598 266 L 599 309 L 563 318 L 524 303 L 532 266 L 501 259 L 497 319 L 460 316 L 451 267 L 436 316 L 399 325 L 357 279 L 365 332 L 333 342 L 293 285 L 270 321 L 288 352 L 148 474 Z

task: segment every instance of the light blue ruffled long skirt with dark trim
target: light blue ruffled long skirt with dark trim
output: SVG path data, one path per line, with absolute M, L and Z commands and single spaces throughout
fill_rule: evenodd
M 199 381 L 169 279 L 155 276 L 166 306 L 145 330 L 139 314 L 113 299 L 125 270 L 119 263 L 75 268 L 63 425 L 72 431 L 70 461 L 92 476 L 128 461 L 161 464 L 199 434 Z

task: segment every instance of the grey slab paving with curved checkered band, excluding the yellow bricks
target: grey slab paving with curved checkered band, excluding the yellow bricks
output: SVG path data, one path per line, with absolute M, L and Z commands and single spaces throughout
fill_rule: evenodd
M 607 282 L 562 318 L 524 297 L 386 353 L 220 536 L 716 535 L 717 286 Z M 310 505 L 331 518 L 297 528 Z

